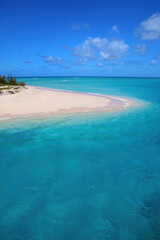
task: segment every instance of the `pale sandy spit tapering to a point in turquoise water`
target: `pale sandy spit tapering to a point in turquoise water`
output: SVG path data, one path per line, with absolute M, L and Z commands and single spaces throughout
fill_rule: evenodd
M 71 113 L 112 112 L 137 105 L 134 99 L 99 93 L 26 86 L 14 95 L 0 96 L 0 121 Z

